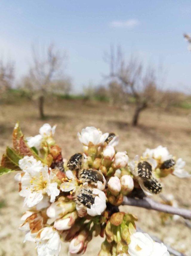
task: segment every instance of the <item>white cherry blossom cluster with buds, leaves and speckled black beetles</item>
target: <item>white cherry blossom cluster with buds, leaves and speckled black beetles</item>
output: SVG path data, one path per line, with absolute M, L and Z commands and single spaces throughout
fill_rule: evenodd
M 124 196 L 158 194 L 169 174 L 189 177 L 185 162 L 166 147 L 146 149 L 129 159 L 117 151 L 119 138 L 86 127 L 77 134 L 82 152 L 67 161 L 53 136 L 56 126 L 44 124 L 39 134 L 24 137 L 16 124 L 13 148 L 1 160 L 1 174 L 17 171 L 19 195 L 26 209 L 20 230 L 24 242 L 36 243 L 39 256 L 57 256 L 61 241 L 69 254 L 83 254 L 93 236 L 105 237 L 99 256 L 167 256 L 166 246 L 136 232 L 137 217 L 119 211 Z

